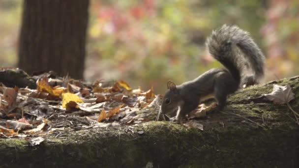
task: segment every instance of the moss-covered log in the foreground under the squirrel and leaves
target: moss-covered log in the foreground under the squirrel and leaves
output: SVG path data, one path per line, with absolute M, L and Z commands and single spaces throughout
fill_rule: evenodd
M 299 126 L 286 105 L 264 98 L 272 84 L 289 84 L 299 111 L 299 77 L 252 86 L 231 95 L 223 112 L 199 122 L 204 130 L 168 121 L 78 130 L 39 145 L 0 139 L 0 167 L 24 168 L 298 168 Z

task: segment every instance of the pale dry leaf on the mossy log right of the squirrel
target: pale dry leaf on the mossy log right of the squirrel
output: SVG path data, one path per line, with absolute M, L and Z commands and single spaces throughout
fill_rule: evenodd
M 280 86 L 273 85 L 273 91 L 265 96 L 274 103 L 284 104 L 295 98 L 295 94 L 292 92 L 290 85 Z

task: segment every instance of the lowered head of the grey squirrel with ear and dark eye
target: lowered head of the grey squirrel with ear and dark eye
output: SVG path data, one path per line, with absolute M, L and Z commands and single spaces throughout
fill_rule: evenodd
M 179 89 L 174 82 L 168 81 L 167 88 L 168 90 L 161 103 L 161 113 L 172 114 L 178 110 L 178 107 L 182 104 L 182 99 L 179 96 Z

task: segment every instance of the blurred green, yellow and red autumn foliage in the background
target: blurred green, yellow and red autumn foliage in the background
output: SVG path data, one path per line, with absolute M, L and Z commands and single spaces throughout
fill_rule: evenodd
M 0 0 L 1 67 L 17 67 L 22 55 L 23 4 Z M 90 0 L 87 7 L 80 62 L 87 81 L 122 79 L 134 88 L 163 92 L 170 79 L 180 84 L 221 66 L 204 44 L 223 24 L 251 33 L 267 56 L 265 81 L 299 75 L 299 0 Z

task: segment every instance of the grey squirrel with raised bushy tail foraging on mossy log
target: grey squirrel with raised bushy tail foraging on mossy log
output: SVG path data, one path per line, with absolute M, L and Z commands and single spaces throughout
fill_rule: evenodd
M 265 56 L 249 32 L 237 26 L 223 25 L 212 31 L 207 38 L 206 47 L 209 54 L 225 68 L 210 69 L 196 79 L 180 85 L 169 81 L 159 114 L 177 112 L 171 119 L 180 121 L 210 98 L 214 98 L 217 103 L 214 111 L 222 110 L 227 96 L 237 91 L 240 84 L 258 84 L 264 76 Z M 251 76 L 244 74 L 248 68 L 252 72 Z

